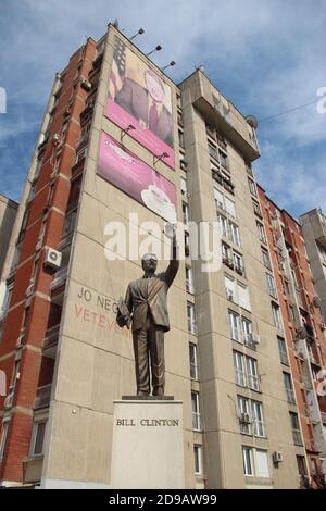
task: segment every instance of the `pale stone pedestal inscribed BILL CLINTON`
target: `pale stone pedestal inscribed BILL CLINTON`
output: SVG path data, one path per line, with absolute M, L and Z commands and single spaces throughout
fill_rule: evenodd
M 113 410 L 112 488 L 185 488 L 183 402 L 127 398 Z

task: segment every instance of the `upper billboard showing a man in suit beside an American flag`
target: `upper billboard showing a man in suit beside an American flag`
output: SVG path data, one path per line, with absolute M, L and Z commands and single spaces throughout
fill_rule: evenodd
M 105 116 L 174 167 L 171 87 L 115 36 Z

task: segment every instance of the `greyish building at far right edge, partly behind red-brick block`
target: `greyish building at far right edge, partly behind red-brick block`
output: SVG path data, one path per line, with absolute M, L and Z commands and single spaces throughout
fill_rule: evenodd
M 321 210 L 315 209 L 301 215 L 300 223 L 326 325 L 326 217 Z

